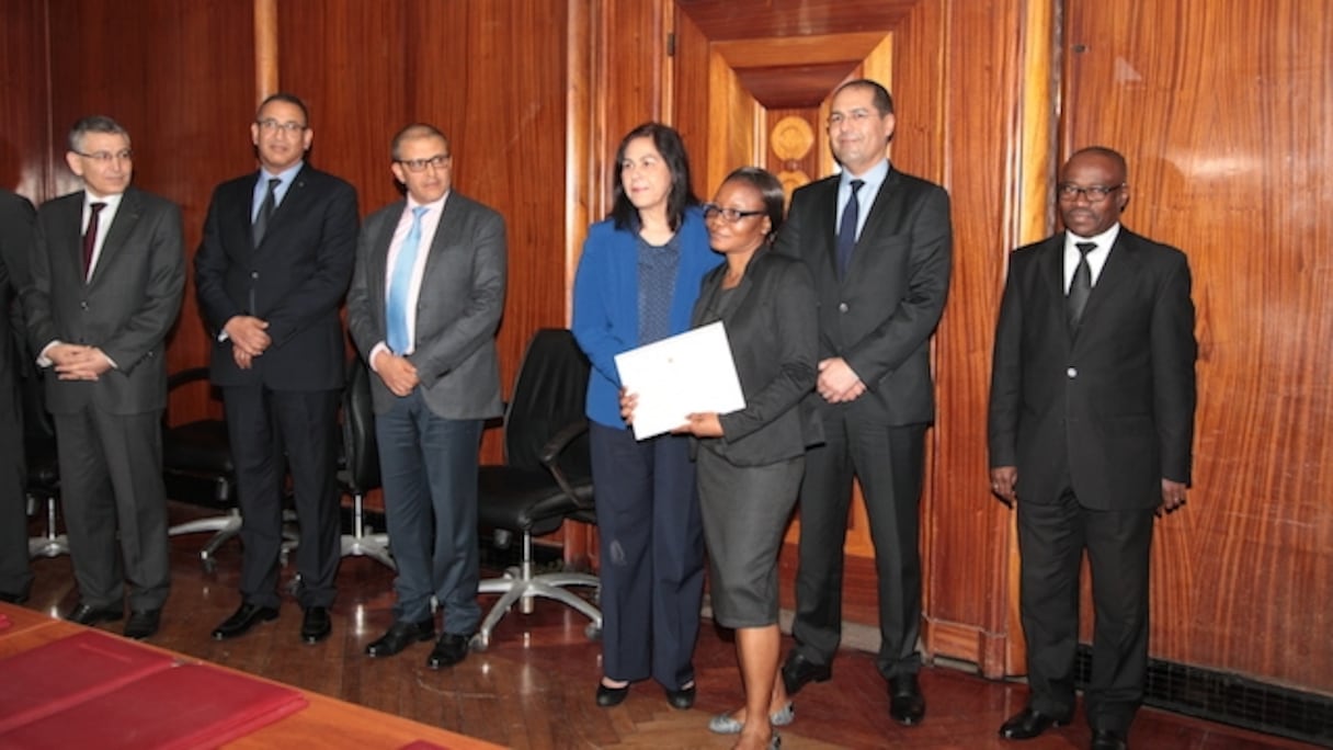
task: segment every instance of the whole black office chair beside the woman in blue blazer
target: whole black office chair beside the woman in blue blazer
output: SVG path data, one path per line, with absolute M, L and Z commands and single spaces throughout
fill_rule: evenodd
M 588 359 L 573 335 L 563 328 L 537 331 L 528 343 L 505 407 L 503 464 L 480 471 L 480 522 L 500 540 L 523 536 L 523 559 L 503 578 L 483 581 L 479 594 L 500 594 L 472 647 L 484 651 L 501 618 L 520 603 L 531 614 L 536 598 L 556 599 L 588 617 L 589 638 L 601 634 L 601 611 L 568 590 L 588 586 L 596 598 L 600 582 L 587 573 L 535 573 L 532 538 L 551 534 L 565 519 L 596 523 L 592 468 L 588 458 L 588 422 L 584 398 Z

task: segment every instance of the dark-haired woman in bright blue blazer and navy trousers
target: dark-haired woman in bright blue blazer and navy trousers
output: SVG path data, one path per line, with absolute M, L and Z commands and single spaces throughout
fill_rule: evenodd
M 694 705 L 694 641 L 704 594 L 689 440 L 643 442 L 620 416 L 620 352 L 681 334 L 708 247 L 680 133 L 645 123 L 616 152 L 611 215 L 588 230 L 575 276 L 573 334 L 592 362 L 589 446 L 601 555 L 603 678 L 597 705 L 656 679 L 676 709 Z

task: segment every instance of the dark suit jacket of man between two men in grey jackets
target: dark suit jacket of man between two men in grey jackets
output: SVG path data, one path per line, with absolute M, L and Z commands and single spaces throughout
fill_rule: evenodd
M 339 307 L 352 279 L 360 226 L 356 191 L 309 164 L 297 172 L 259 248 L 251 243 L 251 207 L 259 173 L 217 185 L 195 256 L 195 286 L 213 334 L 212 380 L 263 383 L 279 391 L 343 386 L 344 339 Z M 236 315 L 269 323 L 272 344 L 241 370 L 232 343 L 219 340 Z

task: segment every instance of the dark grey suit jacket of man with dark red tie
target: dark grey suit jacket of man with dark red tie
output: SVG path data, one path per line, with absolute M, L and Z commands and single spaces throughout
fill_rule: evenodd
M 180 208 L 131 187 L 103 242 L 92 278 L 83 278 L 84 192 L 37 210 L 31 283 L 24 290 L 35 352 L 53 340 L 101 348 L 116 367 L 96 382 L 45 378 L 47 408 L 69 414 L 88 404 L 112 414 L 167 406 L 167 334 L 185 290 Z

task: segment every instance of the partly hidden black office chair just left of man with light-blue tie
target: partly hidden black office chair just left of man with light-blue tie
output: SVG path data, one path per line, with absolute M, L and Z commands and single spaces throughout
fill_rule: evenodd
M 376 534 L 365 523 L 365 495 L 380 486 L 380 452 L 375 439 L 371 370 L 359 356 L 353 356 L 347 366 L 343 460 L 337 479 L 343 492 L 352 495 L 352 534 L 343 535 L 343 556 L 368 556 L 397 570 L 389 552 L 389 535 Z

